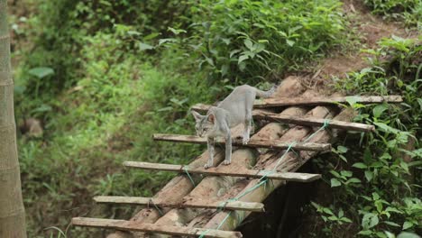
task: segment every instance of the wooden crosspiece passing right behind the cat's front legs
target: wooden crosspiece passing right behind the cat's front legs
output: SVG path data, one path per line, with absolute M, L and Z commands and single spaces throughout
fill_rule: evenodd
M 165 141 L 165 142 L 189 142 L 189 143 L 206 144 L 205 137 L 199 137 L 195 135 L 156 133 L 153 135 L 153 139 L 155 141 Z M 225 141 L 223 139 L 217 139 L 216 144 L 225 145 Z M 240 142 L 240 140 L 233 140 L 232 144 L 234 146 L 286 150 L 289 148 L 291 143 L 279 142 L 277 140 L 262 141 L 262 140 L 251 139 L 251 141 L 249 141 L 248 144 L 246 145 Z M 330 143 L 298 142 L 298 143 L 293 144 L 291 148 L 293 150 L 298 150 L 298 151 L 331 151 L 331 144 Z

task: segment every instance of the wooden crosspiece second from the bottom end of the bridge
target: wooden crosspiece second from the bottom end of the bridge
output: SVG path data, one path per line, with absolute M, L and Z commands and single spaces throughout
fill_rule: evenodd
M 162 203 L 160 200 L 151 197 L 118 197 L 118 196 L 97 196 L 94 197 L 96 203 L 107 204 L 128 204 L 128 205 L 143 205 L 143 206 L 164 206 L 173 208 L 209 208 L 219 209 L 225 208 L 227 210 L 239 210 L 250 212 L 264 212 L 264 205 L 261 203 L 248 203 L 248 202 L 206 202 L 203 201 L 184 201 L 182 203 Z

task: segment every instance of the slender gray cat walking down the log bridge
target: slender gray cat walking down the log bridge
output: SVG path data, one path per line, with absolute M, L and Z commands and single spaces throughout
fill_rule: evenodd
M 225 137 L 225 165 L 231 163 L 232 160 L 232 137 L 230 128 L 238 124 L 244 124 L 243 144 L 249 142 L 249 134 L 252 127 L 252 106 L 256 96 L 263 98 L 270 97 L 276 90 L 271 87 L 269 91 L 261 91 L 256 87 L 243 85 L 235 87 L 233 92 L 225 97 L 225 100 L 217 106 L 211 106 L 206 115 L 198 114 L 192 111 L 197 121 L 195 129 L 197 135 L 206 137 L 209 159 L 204 166 L 208 169 L 214 163 L 214 144 L 217 136 Z

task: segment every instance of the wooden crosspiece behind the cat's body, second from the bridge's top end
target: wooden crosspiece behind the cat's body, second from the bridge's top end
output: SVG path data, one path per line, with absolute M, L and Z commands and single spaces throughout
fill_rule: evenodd
M 206 112 L 209 109 L 210 105 L 194 105 L 192 110 L 199 112 Z M 311 117 L 298 117 L 298 116 L 289 116 L 281 114 L 272 114 L 263 110 L 253 110 L 252 116 L 255 119 L 268 120 L 271 122 L 285 123 L 285 124 L 298 124 L 298 125 L 307 125 L 307 126 L 323 126 L 325 119 L 321 118 L 311 118 Z M 375 126 L 372 124 L 358 124 L 351 122 L 343 122 L 337 120 L 330 120 L 327 125 L 329 128 L 335 129 L 344 129 L 355 132 L 374 132 Z

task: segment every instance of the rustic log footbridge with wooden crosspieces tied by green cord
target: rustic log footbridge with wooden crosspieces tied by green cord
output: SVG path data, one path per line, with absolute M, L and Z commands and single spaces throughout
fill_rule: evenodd
M 285 80 L 286 81 L 286 80 Z M 280 114 L 261 109 L 253 110 L 255 120 L 269 122 L 252 135 L 247 145 L 234 140 L 232 164 L 220 165 L 224 150 L 216 151 L 215 168 L 203 169 L 207 160 L 204 152 L 189 165 L 125 161 L 133 169 L 161 170 L 179 173 L 154 197 L 94 197 L 96 203 L 144 206 L 133 220 L 74 217 L 73 225 L 114 229 L 146 237 L 151 233 L 193 237 L 242 237 L 233 232 L 252 212 L 265 212 L 263 200 L 288 181 L 312 182 L 319 174 L 298 173 L 310 158 L 331 151 L 330 140 L 340 131 L 371 133 L 375 127 L 350 122 L 353 114 L 346 110 L 336 114 L 347 97 L 300 99 L 311 92 L 291 92 L 295 82 L 281 85 L 279 90 L 290 98 L 271 98 L 255 103 L 256 108 L 281 108 Z M 297 98 L 291 98 L 297 96 Z M 354 96 L 361 104 L 399 103 L 400 96 Z M 316 106 L 307 110 L 308 106 Z M 209 105 L 192 109 L 206 111 Z M 316 127 L 316 128 L 313 128 Z M 206 139 L 191 135 L 154 134 L 155 141 L 205 144 Z M 224 145 L 224 141 L 216 143 Z M 267 151 L 258 155 L 256 148 Z M 257 162 L 254 162 L 256 160 Z M 266 187 L 271 183 L 271 186 Z M 218 191 L 225 190 L 221 195 Z M 184 214 L 186 209 L 189 215 Z M 117 232 L 111 237 L 125 237 Z M 155 236 L 154 236 L 155 237 Z

